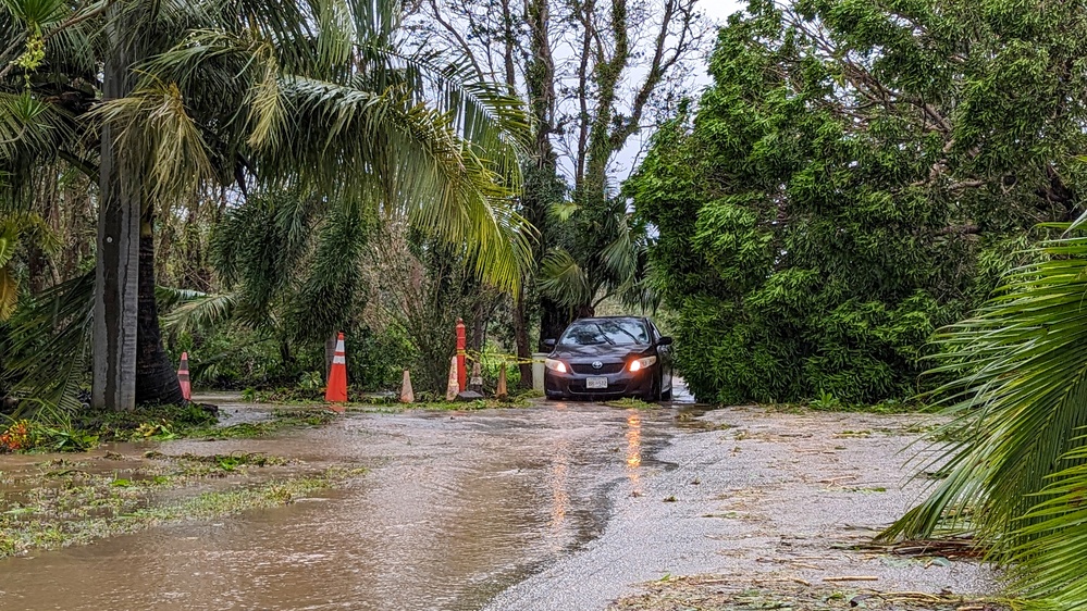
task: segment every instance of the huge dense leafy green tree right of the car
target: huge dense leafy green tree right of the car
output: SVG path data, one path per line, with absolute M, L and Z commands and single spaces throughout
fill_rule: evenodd
M 729 20 L 714 85 L 625 186 L 658 230 L 653 284 L 696 396 L 875 403 L 940 379 L 918 379 L 931 333 L 1079 209 L 1072 4 L 755 1 Z

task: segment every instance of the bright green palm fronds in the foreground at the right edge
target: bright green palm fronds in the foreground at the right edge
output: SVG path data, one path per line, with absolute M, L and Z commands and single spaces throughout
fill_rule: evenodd
M 885 537 L 969 532 L 1028 607 L 1087 607 L 1087 237 L 1043 242 L 974 317 L 938 336 L 953 420 L 926 471 L 946 473 Z M 950 442 L 946 440 L 950 439 Z

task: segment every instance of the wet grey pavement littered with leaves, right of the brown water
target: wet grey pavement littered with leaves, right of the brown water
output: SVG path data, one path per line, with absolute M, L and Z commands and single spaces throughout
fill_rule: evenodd
M 917 501 L 925 482 L 904 463 L 931 424 L 753 407 L 692 416 L 614 491 L 600 539 L 493 609 L 987 609 L 992 574 L 973 559 L 860 549 Z

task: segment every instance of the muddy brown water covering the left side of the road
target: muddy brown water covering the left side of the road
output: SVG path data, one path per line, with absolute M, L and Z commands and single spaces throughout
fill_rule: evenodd
M 2 560 L 0 609 L 480 609 L 597 537 L 609 490 L 637 489 L 674 420 L 670 409 L 552 403 L 171 442 L 171 453 L 372 471 L 275 510 Z

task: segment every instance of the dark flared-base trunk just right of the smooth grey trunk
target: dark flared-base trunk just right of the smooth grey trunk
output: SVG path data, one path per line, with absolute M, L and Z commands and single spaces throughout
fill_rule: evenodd
M 177 372 L 162 349 L 155 301 L 155 219 L 150 209 L 139 230 L 139 310 L 136 332 L 136 402 L 181 403 Z

